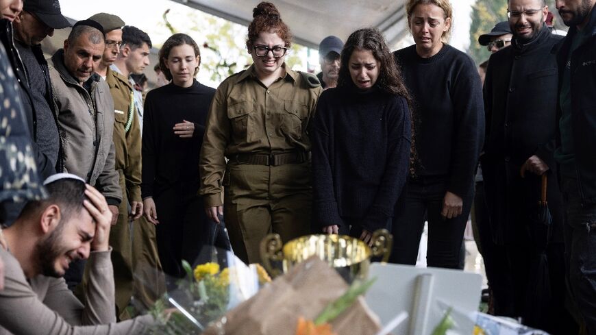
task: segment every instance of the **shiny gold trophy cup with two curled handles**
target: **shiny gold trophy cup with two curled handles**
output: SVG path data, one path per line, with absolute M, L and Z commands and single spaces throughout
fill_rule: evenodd
M 260 251 L 263 266 L 273 276 L 286 273 L 311 256 L 319 256 L 347 282 L 352 282 L 367 277 L 372 256 L 382 256 L 382 262 L 389 258 L 393 236 L 386 229 L 379 229 L 373 233 L 372 240 L 369 247 L 351 236 L 319 234 L 295 238 L 282 245 L 279 235 L 269 234 L 261 241 Z M 275 267 L 272 262 L 281 266 Z

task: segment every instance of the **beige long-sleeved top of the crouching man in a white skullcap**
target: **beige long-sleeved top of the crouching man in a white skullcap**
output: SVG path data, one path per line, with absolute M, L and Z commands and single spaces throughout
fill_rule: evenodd
M 0 290 L 0 335 L 143 334 L 153 317 L 116 323 L 114 270 L 110 251 L 92 252 L 87 262 L 91 280 L 83 305 L 64 278 L 38 275 L 29 282 L 18 260 L 0 247 L 5 288 Z M 86 327 L 82 327 L 86 326 Z

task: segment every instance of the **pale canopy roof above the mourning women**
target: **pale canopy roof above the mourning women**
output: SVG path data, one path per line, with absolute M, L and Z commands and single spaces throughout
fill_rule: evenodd
M 258 0 L 173 0 L 191 8 L 249 25 Z M 377 27 L 388 45 L 408 34 L 405 0 L 275 0 L 295 41 L 319 49 L 319 42 L 335 35 L 345 40 L 358 27 Z

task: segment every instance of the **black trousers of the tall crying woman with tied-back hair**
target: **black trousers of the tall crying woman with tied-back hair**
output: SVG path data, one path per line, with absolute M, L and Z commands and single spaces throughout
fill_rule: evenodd
M 473 198 L 463 198 L 461 215 L 453 219 L 443 219 L 440 212 L 443 209 L 443 198 L 446 192 L 447 180 L 445 177 L 408 179 L 395 206 L 395 216 L 391 227 L 393 252 L 390 262 L 416 264 L 426 212 L 428 220 L 427 265 L 461 269 L 462 241 Z

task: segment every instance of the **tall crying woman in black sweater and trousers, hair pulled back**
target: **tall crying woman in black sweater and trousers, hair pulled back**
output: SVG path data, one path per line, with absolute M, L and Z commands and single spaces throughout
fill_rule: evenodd
M 473 61 L 445 44 L 448 0 L 410 0 L 406 12 L 416 44 L 395 58 L 414 101 L 419 159 L 396 206 L 391 260 L 416 263 L 427 213 L 428 266 L 458 268 L 484 138 L 482 84 Z

